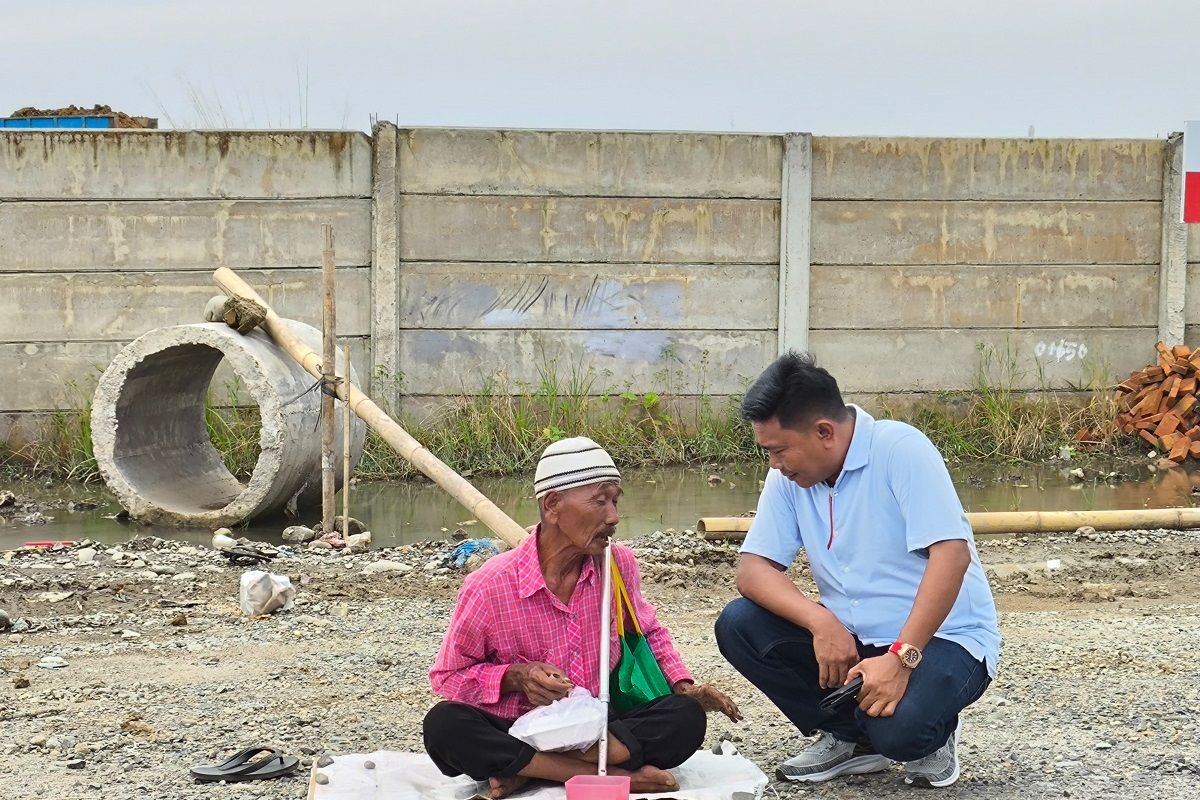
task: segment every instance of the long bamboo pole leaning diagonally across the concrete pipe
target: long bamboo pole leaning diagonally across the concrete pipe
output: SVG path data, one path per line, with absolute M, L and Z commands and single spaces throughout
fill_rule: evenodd
M 320 356 L 313 353 L 312 348 L 300 341 L 275 313 L 275 309 L 266 305 L 254 289 L 241 279 L 241 277 L 222 266 L 212 273 L 214 281 L 230 297 L 244 297 L 257 302 L 266 309 L 266 319 L 263 327 L 271 338 L 283 348 L 288 355 L 295 359 L 305 371 L 316 377 L 320 377 Z M 430 480 L 445 489 L 450 497 L 461 503 L 470 515 L 487 525 L 497 536 L 503 539 L 509 546 L 520 545 L 528 533 L 524 528 L 512 521 L 506 513 L 500 511 L 491 500 L 472 486 L 467 479 L 446 467 L 437 456 L 425 449 L 421 443 L 414 439 L 408 431 L 400 427 L 395 420 L 388 416 L 383 409 L 364 395 L 358 386 L 352 386 L 347 392 L 346 386 L 337 387 L 338 397 L 348 401 L 350 410 L 371 426 L 383 439 L 391 445 L 396 452 L 407 458 L 413 467 L 421 470 Z

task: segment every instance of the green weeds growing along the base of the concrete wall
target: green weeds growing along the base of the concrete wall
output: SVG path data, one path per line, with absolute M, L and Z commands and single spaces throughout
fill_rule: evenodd
M 533 470 L 547 444 L 587 434 L 622 467 L 718 464 L 761 459 L 750 426 L 738 414 L 738 397 L 685 395 L 678 375 L 659 375 L 662 391 L 602 389 L 604 375 L 574 371 L 560 378 L 547 366 L 534 385 L 511 386 L 503 377 L 484 381 L 479 393 L 462 393 L 430 411 L 397 415 L 419 441 L 466 476 Z M 944 456 L 958 461 L 1040 461 L 1064 446 L 1111 455 L 1129 447 L 1115 425 L 1116 404 L 1108 372 L 1090 365 L 1085 380 L 1052 390 L 1042 375 L 1038 389 L 1016 369 L 1010 351 L 982 348 L 976 386 L 968 391 L 883 399 L 881 416 L 908 421 L 924 431 Z M 394 379 L 398 387 L 402 378 Z M 258 459 L 259 415 L 242 405 L 236 385 L 229 399 L 205 409 L 209 438 L 226 467 L 246 480 Z M 22 447 L 0 445 L 0 468 L 64 480 L 98 477 L 91 456 L 90 409 L 56 411 L 43 435 Z M 1080 431 L 1088 432 L 1076 443 Z M 416 470 L 373 432 L 368 433 L 356 475 L 365 480 L 416 477 Z

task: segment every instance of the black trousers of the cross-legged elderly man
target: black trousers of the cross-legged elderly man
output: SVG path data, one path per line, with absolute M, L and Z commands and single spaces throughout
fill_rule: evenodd
M 536 753 L 509 735 L 511 727 L 511 720 L 473 705 L 442 702 L 425 715 L 425 752 L 443 775 L 469 775 L 475 781 L 511 777 Z M 660 697 L 624 714 L 612 712 L 608 733 L 629 751 L 629 760 L 613 766 L 679 766 L 700 750 L 707 727 L 700 703 L 680 694 Z

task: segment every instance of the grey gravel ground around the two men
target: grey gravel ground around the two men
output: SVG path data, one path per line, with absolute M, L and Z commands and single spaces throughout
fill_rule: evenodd
M 0 554 L 0 775 L 6 798 L 304 798 L 307 770 L 196 784 L 187 768 L 252 742 L 299 754 L 420 748 L 426 669 L 461 575 L 450 545 L 275 563 L 295 608 L 238 609 L 241 567 L 208 548 L 124 546 Z M 648 596 L 702 680 L 746 721 L 710 717 L 772 774 L 800 739 L 724 663 L 712 625 L 736 551 L 694 535 L 635 542 Z M 947 798 L 1200 798 L 1200 536 L 1127 531 L 980 545 L 1001 607 L 1001 674 L 968 709 Z M 402 565 L 365 573 L 386 559 Z M 1046 572 L 1046 561 L 1061 569 Z M 802 588 L 811 589 L 803 569 Z M 70 593 L 70 594 L 68 594 Z M 2 627 L 0 620 L 0 627 Z M 19 632 L 14 632 L 18 631 Z M 40 668 L 43 657 L 66 667 Z M 16 776 L 16 780 L 12 777 Z M 779 795 L 900 798 L 899 768 Z

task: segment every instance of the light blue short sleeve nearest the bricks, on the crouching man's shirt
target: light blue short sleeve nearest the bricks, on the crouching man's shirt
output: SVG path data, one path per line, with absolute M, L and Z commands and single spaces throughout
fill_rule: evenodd
M 888 483 L 904 517 L 910 553 L 937 542 L 973 539 L 946 461 L 919 431 L 892 449 Z

